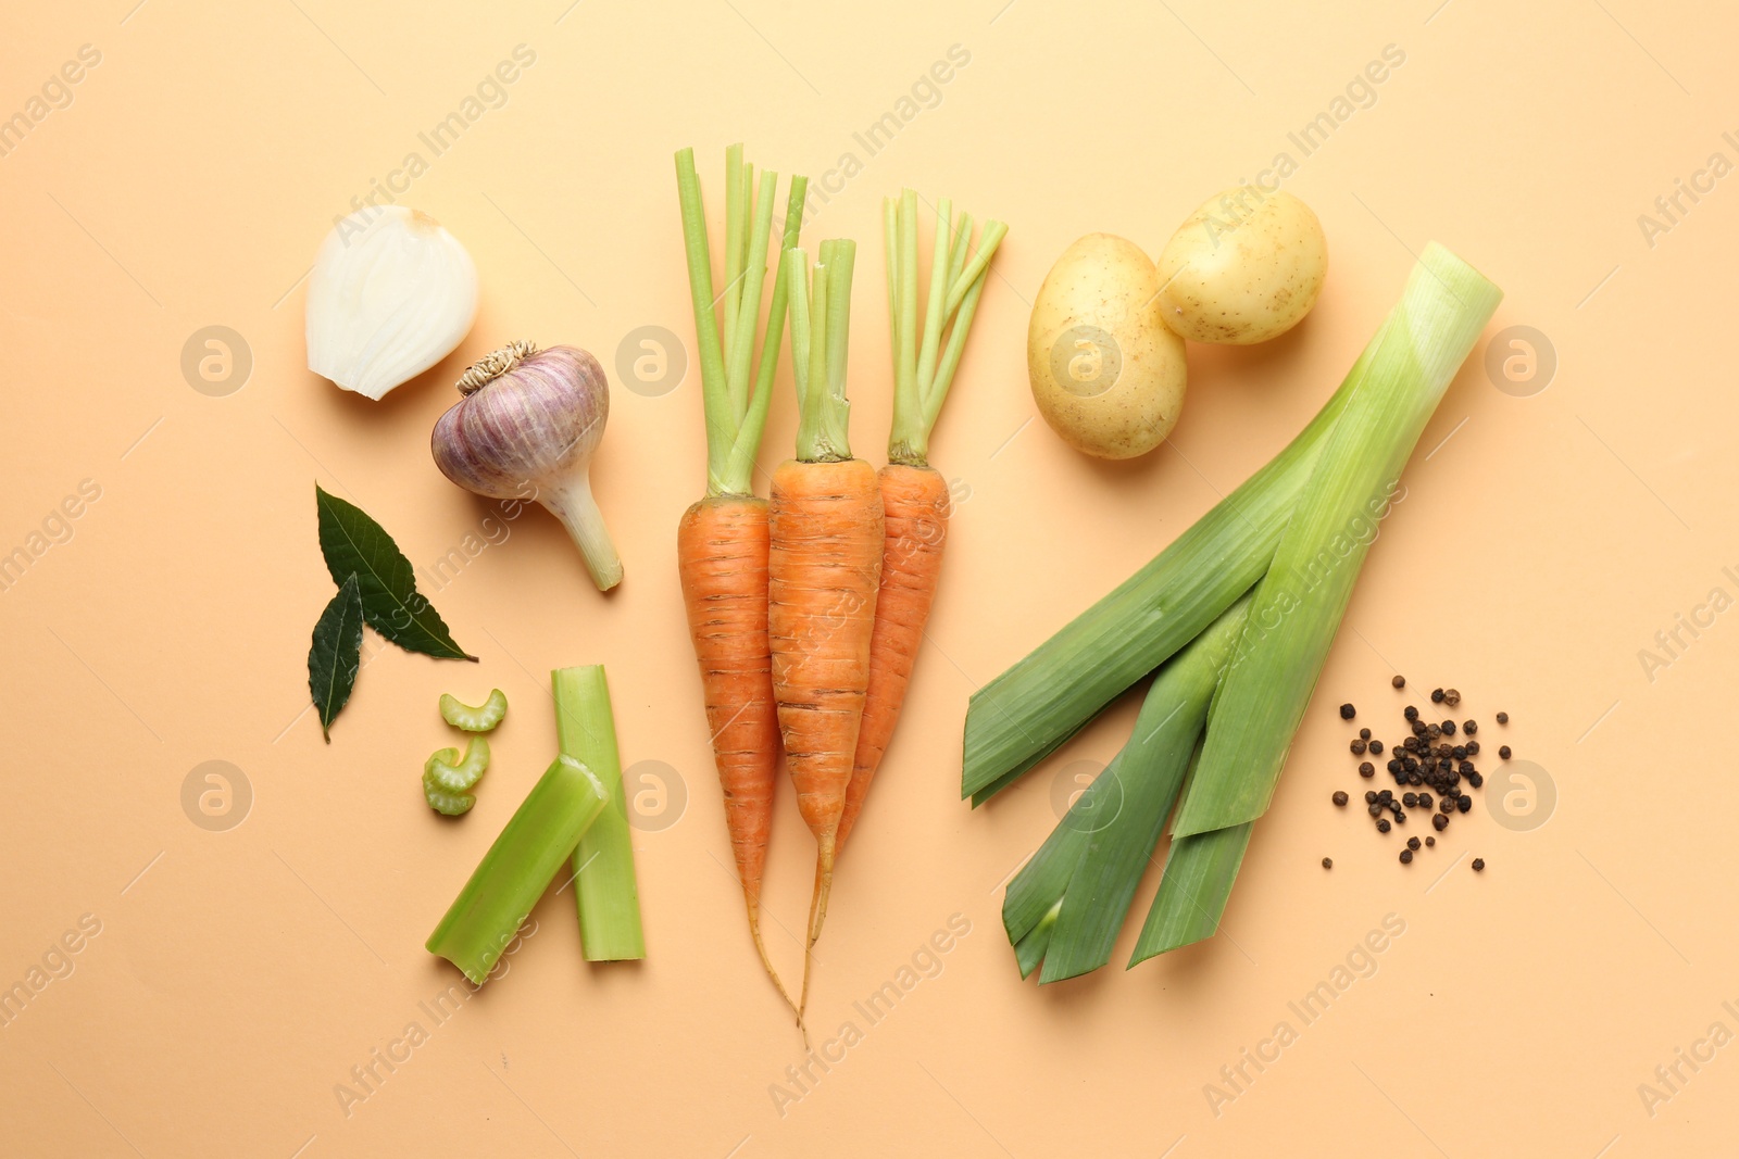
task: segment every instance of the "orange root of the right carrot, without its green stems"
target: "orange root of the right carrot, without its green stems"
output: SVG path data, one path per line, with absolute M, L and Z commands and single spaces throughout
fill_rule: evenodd
M 943 547 L 948 542 L 948 480 L 932 467 L 890 462 L 878 474 L 885 535 L 882 551 L 882 591 L 875 606 L 875 632 L 870 638 L 870 685 L 864 692 L 864 721 L 857 732 L 852 780 L 845 787 L 845 811 L 840 817 L 838 846 L 857 822 L 870 782 L 882 765 L 887 742 L 894 737 L 899 709 L 906 702 L 906 683 L 918 659 L 923 624 L 930 619 L 936 584 L 943 572 Z

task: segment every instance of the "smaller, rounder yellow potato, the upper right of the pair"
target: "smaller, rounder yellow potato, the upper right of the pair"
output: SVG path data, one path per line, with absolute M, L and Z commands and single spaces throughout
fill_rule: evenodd
M 1329 242 L 1290 193 L 1238 186 L 1202 202 L 1158 266 L 1160 304 L 1177 334 L 1249 346 L 1285 334 L 1316 304 Z

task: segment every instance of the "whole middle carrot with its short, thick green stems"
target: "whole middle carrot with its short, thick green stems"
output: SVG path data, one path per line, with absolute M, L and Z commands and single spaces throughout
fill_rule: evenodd
M 767 520 L 772 690 L 796 806 L 816 836 L 810 949 L 828 917 L 882 586 L 882 490 L 875 467 L 852 459 L 847 441 L 854 255 L 850 242 L 823 242 L 810 285 L 803 250 L 784 254 L 800 415 L 796 459 L 774 471 Z M 809 1001 L 809 963 L 805 952 L 798 1017 Z

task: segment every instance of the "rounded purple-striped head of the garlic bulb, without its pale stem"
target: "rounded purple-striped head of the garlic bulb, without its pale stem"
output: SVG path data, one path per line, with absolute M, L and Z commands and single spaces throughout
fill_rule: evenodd
M 527 499 L 590 462 L 610 417 L 603 367 L 588 351 L 551 346 L 464 396 L 435 422 L 435 466 L 490 499 Z

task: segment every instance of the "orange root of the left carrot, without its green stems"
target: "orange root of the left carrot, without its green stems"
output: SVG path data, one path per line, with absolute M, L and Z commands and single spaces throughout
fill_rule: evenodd
M 725 791 L 725 827 L 737 857 L 750 935 L 779 987 L 760 931 L 762 876 L 779 775 L 779 723 L 767 650 L 767 504 L 748 495 L 703 499 L 676 527 L 676 568 L 689 634 L 701 662 L 713 761 Z

